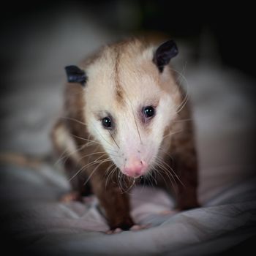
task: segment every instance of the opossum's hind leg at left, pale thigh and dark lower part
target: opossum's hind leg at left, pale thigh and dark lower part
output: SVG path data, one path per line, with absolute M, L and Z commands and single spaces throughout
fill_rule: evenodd
M 82 200 L 82 195 L 89 195 L 89 184 L 84 186 L 85 174 L 78 173 L 80 165 L 78 164 L 79 148 L 75 146 L 73 138 L 69 135 L 65 124 L 59 120 L 53 127 L 51 132 L 53 147 L 56 152 L 56 162 L 61 162 L 64 165 L 65 173 L 70 181 L 72 192 L 64 196 L 64 200 Z M 83 175 L 81 175 L 81 173 Z

